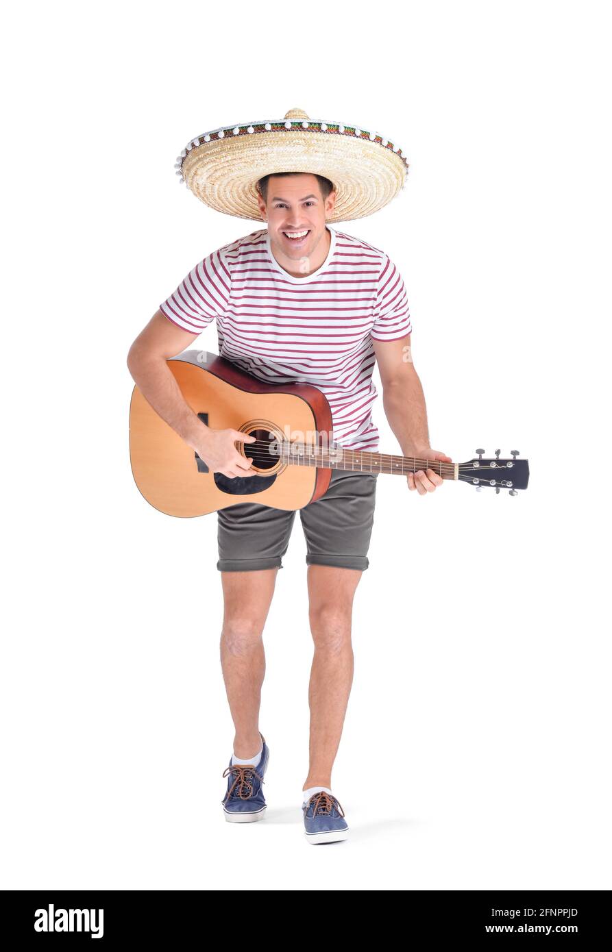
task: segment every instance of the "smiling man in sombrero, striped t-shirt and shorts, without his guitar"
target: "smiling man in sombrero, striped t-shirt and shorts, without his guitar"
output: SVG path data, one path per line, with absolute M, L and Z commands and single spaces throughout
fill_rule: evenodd
M 210 470 L 233 479 L 253 472 L 248 444 L 254 438 L 205 426 L 166 365 L 204 327 L 216 320 L 219 353 L 259 379 L 319 387 L 332 409 L 335 440 L 351 449 L 377 448 L 371 417 L 377 362 L 385 414 L 403 454 L 450 462 L 429 445 L 398 269 L 383 251 L 330 224 L 386 204 L 389 183 L 382 188 L 380 177 L 395 176 L 393 197 L 405 177 L 404 160 L 374 133 L 365 141 L 360 130 L 350 128 L 346 147 L 340 147 L 344 126 L 307 120 L 291 110 L 282 124 L 217 130 L 181 154 L 181 177 L 200 199 L 239 217 L 259 216 L 267 228 L 218 248 L 190 271 L 133 342 L 128 358 L 133 379 Z M 240 138 L 233 140 L 230 132 Z M 257 138 L 250 139 L 253 133 Z M 342 148 L 346 154 L 338 158 Z M 217 173 L 218 182 L 227 184 L 225 193 L 214 179 Z M 358 187 L 356 174 L 362 177 Z M 236 441 L 245 443 L 246 459 Z M 442 479 L 433 468 L 423 468 L 408 474 L 407 483 L 425 495 Z M 310 843 L 347 837 L 331 775 L 353 681 L 352 608 L 369 565 L 376 485 L 376 475 L 334 470 L 327 492 L 299 510 L 315 643 L 310 769 L 302 788 Z M 262 783 L 269 749 L 258 728 L 262 633 L 295 515 L 248 502 L 217 513 L 225 609 L 220 655 L 235 724 L 234 753 L 223 775 L 229 777 L 223 803 L 231 822 L 261 819 L 266 810 Z

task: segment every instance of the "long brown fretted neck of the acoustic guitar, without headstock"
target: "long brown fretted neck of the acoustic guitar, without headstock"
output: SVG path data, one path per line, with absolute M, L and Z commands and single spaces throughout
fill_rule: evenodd
M 248 444 L 245 449 L 248 455 Z M 459 479 L 459 465 L 426 460 L 418 456 L 395 456 L 391 453 L 373 453 L 342 446 L 323 449 L 304 443 L 285 443 L 278 446 L 278 456 L 290 466 L 316 466 L 322 469 L 349 469 L 356 473 L 389 473 L 406 476 L 419 469 L 433 469 L 442 479 Z

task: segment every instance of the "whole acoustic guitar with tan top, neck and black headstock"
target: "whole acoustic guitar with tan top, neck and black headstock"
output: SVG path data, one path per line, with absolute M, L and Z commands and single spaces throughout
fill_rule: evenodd
M 442 463 L 412 456 L 346 449 L 334 440 L 327 398 L 310 384 L 265 384 L 224 357 L 207 350 L 184 350 L 168 362 L 187 404 L 207 426 L 233 428 L 255 437 L 236 441 L 238 452 L 253 459 L 255 474 L 234 479 L 210 472 L 189 446 L 153 410 L 138 387 L 130 405 L 130 458 L 136 486 L 160 512 L 203 516 L 237 503 L 301 509 L 325 493 L 333 469 L 406 476 L 434 469 L 442 479 L 526 489 L 527 460 L 482 458 Z

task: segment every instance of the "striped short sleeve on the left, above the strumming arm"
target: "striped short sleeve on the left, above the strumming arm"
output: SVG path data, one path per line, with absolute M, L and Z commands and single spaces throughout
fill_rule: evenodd
M 231 289 L 232 276 L 218 248 L 192 268 L 159 309 L 173 324 L 199 334 L 227 310 Z

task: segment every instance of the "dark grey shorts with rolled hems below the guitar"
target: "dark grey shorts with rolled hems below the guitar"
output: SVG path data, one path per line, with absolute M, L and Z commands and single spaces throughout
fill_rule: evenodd
M 374 525 L 376 473 L 334 469 L 327 492 L 301 509 L 237 503 L 219 509 L 220 572 L 282 568 L 296 512 L 306 538 L 307 565 L 365 569 Z

